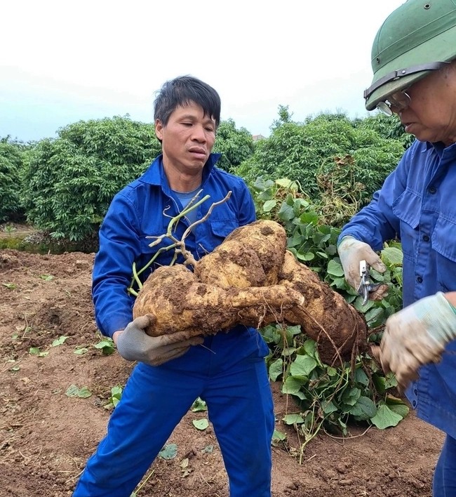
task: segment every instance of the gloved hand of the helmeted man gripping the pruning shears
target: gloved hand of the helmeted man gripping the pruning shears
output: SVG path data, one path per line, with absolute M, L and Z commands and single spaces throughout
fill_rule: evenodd
M 373 249 L 363 241 L 354 239 L 354 237 L 347 236 L 342 238 L 342 241 L 337 248 L 337 252 L 339 253 L 340 262 L 342 263 L 345 279 L 356 291 L 361 282 L 361 276 L 359 274 L 359 263 L 361 260 L 366 260 L 366 263 L 378 272 L 385 272 L 387 270 L 387 267 L 382 263 L 382 260 L 377 256 Z M 380 286 L 370 298 L 373 300 L 382 300 L 387 293 L 387 288 L 387 285 Z

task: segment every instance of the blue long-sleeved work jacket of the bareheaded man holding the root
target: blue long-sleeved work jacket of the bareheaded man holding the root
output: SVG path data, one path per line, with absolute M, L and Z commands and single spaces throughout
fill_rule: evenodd
M 210 154 L 203 168 L 200 199 L 206 194 L 210 199 L 198 207 L 197 218 L 205 216 L 210 206 L 224 199 L 229 191 L 232 194 L 227 201 L 215 206 L 208 219 L 196 225 L 185 239 L 187 250 L 196 259 L 213 251 L 236 227 L 255 220 L 255 206 L 246 183 L 215 167 L 219 158 L 220 154 Z M 134 297 L 127 289 L 133 275 L 133 262 L 140 270 L 159 248 L 173 244 L 165 238 L 159 245 L 149 246 L 154 241 L 151 237 L 166 233 L 171 218 L 180 211 L 182 204 L 170 190 L 161 155 L 140 178 L 123 188 L 112 200 L 100 227 L 100 249 L 93 266 L 95 320 L 105 336 L 123 330 L 132 320 Z M 188 226 L 189 221 L 182 218 L 173 235 L 182 239 Z M 151 267 L 140 274 L 140 279 L 145 281 L 156 267 L 169 265 L 173 256 L 173 249 L 161 252 Z M 177 263 L 183 262 L 180 256 Z

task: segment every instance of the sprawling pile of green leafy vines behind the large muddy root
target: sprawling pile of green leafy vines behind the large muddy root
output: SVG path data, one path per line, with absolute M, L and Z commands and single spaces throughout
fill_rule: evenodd
M 316 271 L 323 281 L 364 314 L 370 341 L 378 343 L 387 317 L 401 308 L 402 251 L 391 242 L 382 251 L 387 272 L 371 270 L 373 281 L 389 285 L 389 295 L 381 301 L 362 298 L 344 279 L 337 257 L 340 228 L 321 224 L 318 208 L 304 198 L 296 182 L 288 179 L 257 180 L 254 185 L 258 217 L 279 221 L 288 234 L 288 248 L 298 260 Z M 396 425 L 408 407 L 396 394 L 396 379 L 384 376 L 368 353 L 356 363 L 342 367 L 323 364 L 314 340 L 300 326 L 266 326 L 262 336 L 270 347 L 267 358 L 271 380 L 283 381 L 283 393 L 297 400 L 298 410 L 288 413 L 285 423 L 295 425 L 302 435 L 302 450 L 319 430 L 337 430 L 347 435 L 349 422 L 365 422 L 383 429 Z M 276 434 L 278 440 L 281 434 Z

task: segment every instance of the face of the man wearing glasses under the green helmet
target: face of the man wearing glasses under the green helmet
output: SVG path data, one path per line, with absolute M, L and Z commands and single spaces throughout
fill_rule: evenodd
M 401 118 L 407 133 L 418 140 L 443 142 L 456 140 L 456 67 L 432 72 L 407 89 L 410 103 L 403 110 L 391 110 Z

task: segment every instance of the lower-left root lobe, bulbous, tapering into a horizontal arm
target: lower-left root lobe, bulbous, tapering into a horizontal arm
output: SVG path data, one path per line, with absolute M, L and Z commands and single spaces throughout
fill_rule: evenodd
M 248 289 L 201 283 L 185 265 L 159 267 L 145 281 L 133 308 L 134 317 L 152 314 L 151 336 L 184 331 L 188 337 L 213 335 L 237 324 L 264 326 L 281 322 L 303 302 L 297 291 L 283 286 Z

